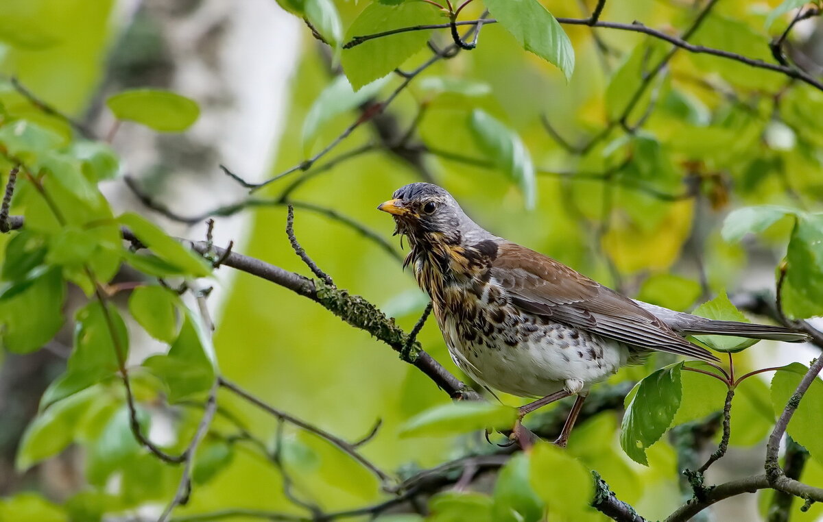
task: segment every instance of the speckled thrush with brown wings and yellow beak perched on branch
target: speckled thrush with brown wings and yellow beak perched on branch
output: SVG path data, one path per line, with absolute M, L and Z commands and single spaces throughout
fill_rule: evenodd
M 537 399 L 518 409 L 513 438 L 529 444 L 523 416 L 575 395 L 555 444 L 565 446 L 591 387 L 655 351 L 714 363 L 688 335 L 801 342 L 780 326 L 713 321 L 626 297 L 472 221 L 444 188 L 414 182 L 378 210 L 405 237 L 412 266 L 453 362 L 486 390 Z M 401 240 L 402 243 L 402 240 Z

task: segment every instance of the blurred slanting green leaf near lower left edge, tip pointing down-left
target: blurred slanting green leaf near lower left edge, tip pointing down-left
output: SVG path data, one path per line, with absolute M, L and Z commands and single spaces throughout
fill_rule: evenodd
M 18 471 L 26 471 L 40 460 L 57 455 L 74 441 L 77 425 L 96 398 L 89 391 L 54 404 L 26 427 L 17 450 L 15 467 Z

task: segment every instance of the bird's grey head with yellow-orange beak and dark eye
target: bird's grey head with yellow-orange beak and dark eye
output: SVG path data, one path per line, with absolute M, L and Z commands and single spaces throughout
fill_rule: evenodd
M 458 202 L 449 192 L 431 183 L 410 183 L 398 188 L 393 199 L 381 203 L 378 210 L 393 215 L 395 233 L 409 238 L 412 245 L 433 240 L 459 243 L 472 225 Z

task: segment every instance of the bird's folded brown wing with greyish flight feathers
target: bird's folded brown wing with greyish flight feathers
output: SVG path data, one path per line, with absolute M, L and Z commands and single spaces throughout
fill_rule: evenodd
M 514 243 L 499 246 L 491 275 L 514 306 L 644 349 L 717 361 L 634 301 L 568 266 Z

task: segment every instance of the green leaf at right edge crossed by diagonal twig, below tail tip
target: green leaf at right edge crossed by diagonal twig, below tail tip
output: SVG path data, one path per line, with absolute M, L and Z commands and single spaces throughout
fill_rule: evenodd
M 777 417 L 783 413 L 789 400 L 792 400 L 797 385 L 808 368 L 801 363 L 792 363 L 774 372 L 771 383 L 772 406 Z M 798 444 L 805 446 L 812 458 L 823 464 L 823 381 L 816 377 L 797 405 L 797 410 L 788 423 L 786 430 Z

